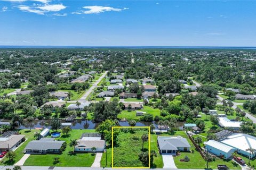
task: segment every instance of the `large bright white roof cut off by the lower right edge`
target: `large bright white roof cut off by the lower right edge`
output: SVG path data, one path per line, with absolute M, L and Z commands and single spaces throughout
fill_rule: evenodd
M 243 151 L 248 148 L 256 149 L 256 138 L 249 134 L 235 133 L 221 142 Z

